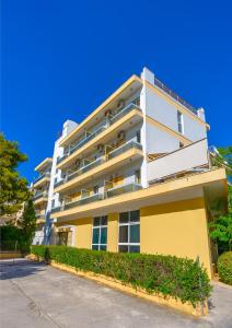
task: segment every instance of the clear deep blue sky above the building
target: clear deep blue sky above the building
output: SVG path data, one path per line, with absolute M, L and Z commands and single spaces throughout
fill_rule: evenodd
M 30 161 L 147 66 L 206 109 L 209 143 L 232 144 L 230 1 L 2 0 L 1 118 Z

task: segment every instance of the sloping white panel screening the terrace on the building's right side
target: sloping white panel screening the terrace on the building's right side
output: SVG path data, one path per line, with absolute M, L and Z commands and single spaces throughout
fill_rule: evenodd
M 207 139 L 201 139 L 148 163 L 149 183 L 185 172 L 209 167 Z

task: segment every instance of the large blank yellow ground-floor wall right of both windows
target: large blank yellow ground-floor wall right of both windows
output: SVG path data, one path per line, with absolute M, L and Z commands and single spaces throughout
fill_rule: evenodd
M 211 277 L 207 214 L 204 199 L 140 209 L 140 251 L 196 259 Z

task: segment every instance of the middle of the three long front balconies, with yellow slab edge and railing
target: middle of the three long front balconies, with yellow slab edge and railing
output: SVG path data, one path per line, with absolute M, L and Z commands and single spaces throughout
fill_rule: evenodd
M 94 175 L 101 175 L 103 172 L 111 171 L 112 167 L 117 167 L 126 164 L 128 161 L 138 160 L 143 156 L 142 145 L 136 141 L 129 141 L 119 148 L 113 150 L 107 155 L 93 161 L 92 163 L 81 167 L 77 172 L 68 175 L 66 179 L 62 179 L 55 185 L 55 192 L 68 190 L 77 187 L 78 184 L 83 184 L 90 177 Z M 128 162 L 129 163 L 129 162 Z

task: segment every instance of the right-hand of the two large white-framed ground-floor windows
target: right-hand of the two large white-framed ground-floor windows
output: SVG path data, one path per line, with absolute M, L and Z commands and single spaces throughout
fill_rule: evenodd
M 131 211 L 119 214 L 118 250 L 140 253 L 140 212 Z

